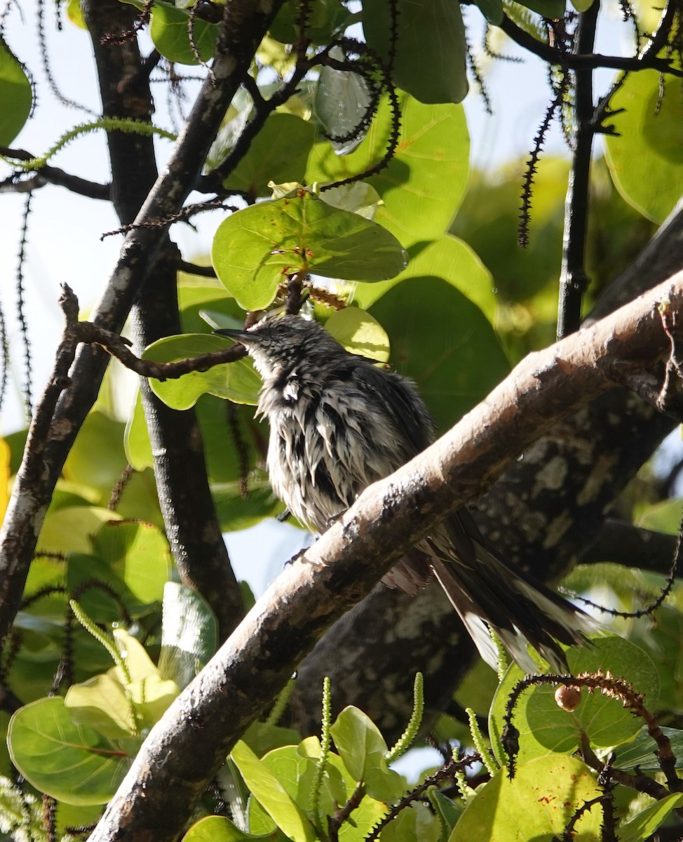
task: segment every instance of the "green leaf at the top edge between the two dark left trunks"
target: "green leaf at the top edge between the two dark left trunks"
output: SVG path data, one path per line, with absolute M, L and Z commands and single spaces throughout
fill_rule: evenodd
M 156 0 L 151 10 L 150 35 L 156 49 L 168 61 L 177 64 L 199 64 L 188 33 L 189 11 L 177 8 L 172 3 Z M 218 37 L 218 25 L 209 24 L 195 16 L 193 20 L 194 43 L 202 61 L 209 61 L 214 55 Z

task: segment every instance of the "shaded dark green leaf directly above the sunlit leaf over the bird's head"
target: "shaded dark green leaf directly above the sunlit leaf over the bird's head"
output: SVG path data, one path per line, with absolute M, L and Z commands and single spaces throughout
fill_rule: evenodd
M 301 181 L 315 141 L 315 126 L 291 114 L 273 114 L 224 186 L 252 196 L 269 196 L 268 182 Z

